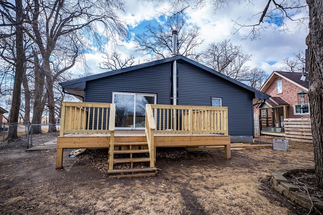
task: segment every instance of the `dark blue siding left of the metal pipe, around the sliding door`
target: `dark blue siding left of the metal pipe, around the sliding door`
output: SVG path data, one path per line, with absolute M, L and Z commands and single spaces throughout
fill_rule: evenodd
M 89 81 L 84 102 L 111 103 L 113 92 L 156 94 L 157 104 L 170 104 L 170 64 Z

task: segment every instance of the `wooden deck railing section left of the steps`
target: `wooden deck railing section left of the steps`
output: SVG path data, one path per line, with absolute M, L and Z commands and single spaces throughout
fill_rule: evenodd
M 68 133 L 113 133 L 116 105 L 63 102 L 60 136 Z

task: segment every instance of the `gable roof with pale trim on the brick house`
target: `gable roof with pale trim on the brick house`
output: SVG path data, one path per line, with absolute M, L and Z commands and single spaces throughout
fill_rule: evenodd
M 273 83 L 277 77 L 282 77 L 283 79 L 293 83 L 294 85 L 302 88 L 305 91 L 308 91 L 308 80 L 300 80 L 302 73 L 291 73 L 289 71 L 273 71 L 272 75 L 265 81 L 263 86 L 260 88 L 261 92 L 265 92 L 267 88 Z

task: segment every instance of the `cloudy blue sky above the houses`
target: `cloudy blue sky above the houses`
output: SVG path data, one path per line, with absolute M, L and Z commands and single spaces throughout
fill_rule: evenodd
M 233 34 L 235 32 L 233 21 L 239 20 L 240 23 L 249 25 L 251 23 L 248 23 L 248 19 L 252 15 L 261 12 L 265 5 L 262 1 L 253 1 L 253 5 L 250 4 L 248 6 L 243 4 L 244 1 L 241 1 L 241 5 L 229 5 L 228 8 L 218 11 L 216 14 L 213 13 L 210 6 L 199 10 L 193 10 L 192 7 L 188 7 L 185 10 L 189 18 L 187 24 L 200 27 L 201 38 L 205 40 L 197 51 L 206 49 L 211 42 L 217 43 L 227 39 L 234 45 L 241 45 L 245 54 L 252 55 L 248 65 L 259 67 L 265 70 L 267 74 L 271 74 L 274 70 L 279 70 L 282 66 L 282 61 L 286 57 L 292 56 L 293 52 L 306 49 L 305 38 L 308 34 L 306 23 L 297 28 L 295 22 L 286 20 L 289 29 L 282 32 L 281 30 L 284 26 L 282 26 L 280 20 L 275 20 L 276 32 L 270 27 L 265 28 L 260 39 L 253 41 L 243 39 L 243 36 L 248 34 L 250 29 L 243 28 L 236 34 Z M 141 56 L 140 53 L 135 51 L 133 37 L 136 34 L 143 33 L 145 26 L 148 24 L 157 25 L 162 23 L 165 19 L 159 12 L 167 7 L 167 5 L 158 5 L 153 2 L 131 0 L 126 2 L 125 13 L 120 15 L 128 26 L 129 38 L 120 41 L 122 46 L 118 50 L 122 53 L 122 57 L 134 54 L 140 62 L 144 62 L 148 58 L 148 56 Z M 258 20 L 259 17 L 256 16 L 254 22 Z M 265 27 L 270 24 L 273 23 L 264 22 Z M 112 50 L 110 44 L 107 44 L 105 48 L 107 51 Z M 99 52 L 88 53 L 85 55 L 85 58 L 93 73 L 105 71 L 98 67 L 99 62 L 103 60 Z M 80 67 L 75 67 L 74 70 L 75 73 L 78 73 Z

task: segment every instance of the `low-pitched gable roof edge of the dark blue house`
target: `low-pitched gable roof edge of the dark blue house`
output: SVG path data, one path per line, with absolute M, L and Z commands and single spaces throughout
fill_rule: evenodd
M 161 59 L 161 60 L 155 60 L 155 61 L 142 63 L 139 65 L 134 65 L 134 66 L 130 66 L 130 67 L 122 68 L 122 69 L 107 71 L 105 73 L 101 73 L 101 74 L 97 74 L 97 75 L 93 75 L 93 76 L 88 76 L 88 77 L 84 77 L 84 78 L 80 78 L 80 79 L 75 79 L 75 80 L 68 81 L 68 82 L 63 82 L 63 83 L 60 83 L 60 85 L 62 86 L 63 91 L 65 91 L 65 92 L 67 91 L 69 94 L 72 94 L 82 100 L 82 98 L 84 97 L 84 90 L 86 88 L 86 82 L 88 82 L 88 81 L 93 81 L 96 79 L 106 78 L 106 77 L 110 77 L 110 76 L 116 76 L 119 74 L 128 73 L 129 71 L 135 71 L 135 70 L 148 68 L 151 66 L 156 66 L 156 65 L 160 65 L 160 64 L 164 64 L 164 63 L 170 63 L 170 62 L 173 62 L 174 60 L 177 60 L 177 62 L 189 64 L 189 65 L 196 67 L 198 69 L 201 69 L 209 74 L 212 74 L 212 75 L 214 75 L 226 82 L 229 82 L 229 83 L 236 85 L 244 90 L 247 90 L 247 91 L 253 93 L 254 98 L 258 98 L 258 99 L 268 99 L 269 98 L 269 96 L 267 94 L 262 93 L 256 89 L 253 89 L 253 88 L 251 88 L 245 84 L 242 84 L 238 81 L 235 81 L 235 80 L 219 73 L 218 71 L 215 71 L 215 70 L 213 70 L 207 66 L 204 66 L 194 60 L 191 60 L 187 57 L 184 57 L 183 55 L 176 55 L 176 56 L 168 57 L 168 58 Z

